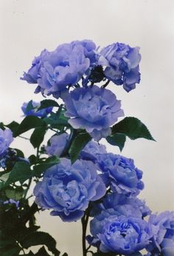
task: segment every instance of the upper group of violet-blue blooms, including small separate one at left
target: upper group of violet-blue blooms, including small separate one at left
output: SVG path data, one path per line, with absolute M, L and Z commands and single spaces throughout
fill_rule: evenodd
M 52 52 L 42 51 L 21 79 L 38 84 L 36 93 L 62 98 L 69 124 L 74 129 L 86 129 L 100 141 L 111 135 L 111 126 L 124 115 L 121 101 L 105 87 L 113 81 L 127 91 L 135 88 L 140 80 L 140 59 L 139 47 L 116 43 L 100 50 L 90 40 L 72 41 Z M 96 85 L 100 81 L 105 83 L 102 87 Z M 38 104 L 32 105 L 31 110 L 23 105 L 24 115 L 43 117 L 49 111 L 36 111 Z

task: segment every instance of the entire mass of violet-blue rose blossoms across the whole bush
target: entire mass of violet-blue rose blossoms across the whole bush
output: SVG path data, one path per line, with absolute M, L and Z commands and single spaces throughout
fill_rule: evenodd
M 144 189 L 142 170 L 133 159 L 106 151 L 99 144 L 111 135 L 111 126 L 124 115 L 121 101 L 110 81 L 129 92 L 139 84 L 139 47 L 114 43 L 100 50 L 93 41 L 72 41 L 56 50 L 44 50 L 32 61 L 23 80 L 38 84 L 35 93 L 63 100 L 64 115 L 73 129 L 85 129 L 91 141 L 74 164 L 65 158 L 69 132 L 53 135 L 44 150 L 60 163 L 44 172 L 34 189 L 35 203 L 51 209 L 63 221 L 83 218 L 88 209 L 91 235 L 86 237 L 100 252 L 115 255 L 174 255 L 174 212 L 151 214 L 137 198 Z M 99 85 L 102 84 L 102 86 Z M 38 110 L 40 103 L 24 103 L 24 115 L 45 118 L 52 107 Z M 13 141 L 9 129 L 0 129 L 0 158 Z

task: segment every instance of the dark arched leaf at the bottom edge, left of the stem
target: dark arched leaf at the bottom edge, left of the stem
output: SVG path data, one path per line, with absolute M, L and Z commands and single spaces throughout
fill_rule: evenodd
M 60 252 L 56 249 L 55 239 L 46 232 L 33 232 L 32 235 L 27 235 L 21 241 L 21 245 L 26 249 L 30 246 L 46 245 L 55 256 L 60 255 Z

